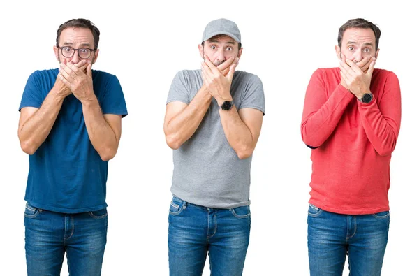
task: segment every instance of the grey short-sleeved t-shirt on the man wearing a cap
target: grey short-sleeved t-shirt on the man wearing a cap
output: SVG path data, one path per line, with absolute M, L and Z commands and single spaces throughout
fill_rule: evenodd
M 179 71 L 170 87 L 168 101 L 189 104 L 203 85 L 200 70 Z M 265 114 L 265 96 L 257 75 L 235 71 L 230 89 L 237 108 L 256 108 Z M 249 205 L 251 157 L 239 159 L 221 125 L 213 98 L 193 136 L 173 151 L 172 194 L 207 208 Z

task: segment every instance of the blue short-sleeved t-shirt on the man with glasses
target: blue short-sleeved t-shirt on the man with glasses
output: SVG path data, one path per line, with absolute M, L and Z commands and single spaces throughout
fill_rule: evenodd
M 35 71 L 24 88 L 20 108 L 40 108 L 54 86 L 58 69 Z M 126 116 L 126 103 L 115 75 L 92 71 L 94 94 L 103 114 Z M 108 161 L 102 161 L 87 134 L 82 103 L 70 94 L 64 99 L 50 134 L 29 155 L 25 200 L 54 212 L 88 212 L 107 206 Z

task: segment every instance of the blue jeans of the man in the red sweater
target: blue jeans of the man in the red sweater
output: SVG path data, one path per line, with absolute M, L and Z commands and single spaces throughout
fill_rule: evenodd
M 311 276 L 379 276 L 387 245 L 390 213 L 340 215 L 309 206 L 308 246 Z

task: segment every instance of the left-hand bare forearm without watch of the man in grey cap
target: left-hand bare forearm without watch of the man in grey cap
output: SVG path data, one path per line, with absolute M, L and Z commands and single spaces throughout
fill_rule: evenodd
M 166 124 L 164 131 L 166 134 L 166 142 L 176 150 L 186 142 L 202 122 L 205 113 L 210 107 L 212 96 L 206 91 L 205 87 L 201 87 L 196 96 L 179 114 L 172 117 Z

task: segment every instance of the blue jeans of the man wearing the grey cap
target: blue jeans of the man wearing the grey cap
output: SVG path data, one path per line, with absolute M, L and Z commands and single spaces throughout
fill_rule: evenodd
M 168 221 L 171 276 L 202 275 L 207 253 L 212 276 L 242 275 L 249 245 L 249 206 L 206 208 L 174 197 Z

